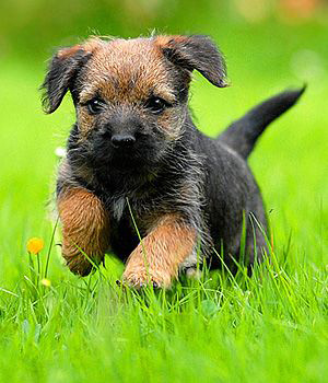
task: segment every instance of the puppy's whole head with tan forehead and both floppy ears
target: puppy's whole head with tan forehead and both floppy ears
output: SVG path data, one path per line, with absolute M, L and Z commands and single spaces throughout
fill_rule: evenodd
M 139 169 L 183 135 L 192 70 L 226 86 L 224 60 L 206 36 L 91 38 L 55 55 L 44 107 L 55 112 L 69 90 L 80 155 L 94 166 Z

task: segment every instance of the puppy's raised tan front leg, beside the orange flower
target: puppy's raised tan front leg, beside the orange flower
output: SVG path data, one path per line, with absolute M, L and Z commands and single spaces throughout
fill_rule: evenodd
M 109 222 L 102 201 L 83 188 L 69 188 L 58 196 L 62 223 L 62 256 L 70 270 L 86 276 L 92 265 L 82 249 L 98 264 L 108 248 Z

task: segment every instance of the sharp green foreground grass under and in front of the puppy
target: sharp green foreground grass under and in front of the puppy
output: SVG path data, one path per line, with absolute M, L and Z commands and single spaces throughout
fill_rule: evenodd
M 54 232 L 48 232 L 49 241 Z M 50 242 L 49 242 L 50 243 Z M 55 255 L 56 246 L 49 246 Z M 52 274 L 23 255 L 12 290 L 0 289 L 0 376 L 11 381 L 324 382 L 327 268 L 274 252 L 253 276 L 209 271 L 173 289 L 118 287 L 120 265 L 86 279 Z M 51 258 L 50 258 L 50 264 Z M 51 274 L 51 270 L 49 270 Z M 20 356 L 17 361 L 17 356 Z M 15 365 L 15 369 L 9 368 Z M 23 378 L 24 376 L 24 378 Z

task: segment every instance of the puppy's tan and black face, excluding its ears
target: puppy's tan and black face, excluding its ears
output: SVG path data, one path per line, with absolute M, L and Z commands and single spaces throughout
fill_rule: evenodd
M 78 126 L 95 163 L 160 161 L 181 134 L 188 74 L 149 39 L 101 43 L 78 78 Z

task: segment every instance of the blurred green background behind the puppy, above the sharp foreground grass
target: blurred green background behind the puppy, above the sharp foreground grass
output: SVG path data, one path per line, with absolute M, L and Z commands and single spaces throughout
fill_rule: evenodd
M 308 84 L 301 102 L 263 135 L 250 158 L 278 246 L 292 233 L 295 254 L 327 251 L 328 4 L 319 0 L 12 0 L 0 12 L 0 270 L 17 269 L 25 240 L 49 222 L 58 159 L 74 112 L 70 97 L 50 116 L 38 86 L 56 47 L 90 34 L 133 37 L 153 30 L 208 34 L 227 61 L 232 86 L 195 73 L 191 107 L 216 135 L 265 97 Z M 280 241 L 281 240 L 281 241 Z M 305 249 L 306 248 L 306 249 Z M 0 282 L 4 279 L 0 272 Z

